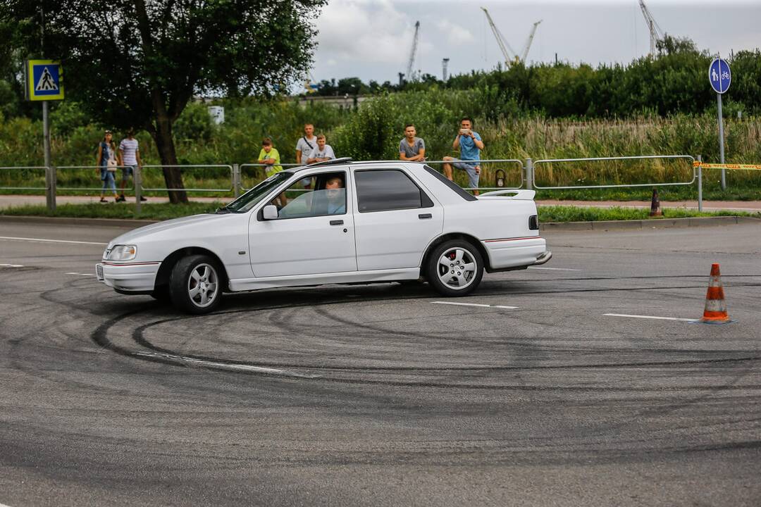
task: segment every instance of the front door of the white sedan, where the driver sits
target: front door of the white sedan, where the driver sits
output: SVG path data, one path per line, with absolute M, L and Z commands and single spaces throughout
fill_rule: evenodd
M 286 195 L 288 204 L 279 210 L 277 219 L 265 220 L 263 206 L 252 214 L 249 249 L 255 277 L 357 270 L 353 199 L 346 176 L 345 170 L 300 172 L 298 179 L 280 194 Z M 305 177 L 314 178 L 312 189 L 306 192 Z M 325 184 L 330 177 L 342 179 L 342 208 L 335 204 L 328 208 L 330 191 Z

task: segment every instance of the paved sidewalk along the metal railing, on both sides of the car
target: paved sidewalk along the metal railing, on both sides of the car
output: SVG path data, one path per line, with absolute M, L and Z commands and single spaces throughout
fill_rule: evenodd
M 87 204 L 97 203 L 100 196 L 96 195 L 59 195 L 56 197 L 56 204 Z M 192 197 L 191 201 L 196 202 L 222 202 L 232 201 L 231 197 Z M 113 197 L 108 198 L 109 204 L 114 205 Z M 129 198 L 127 202 L 135 202 L 135 198 Z M 169 202 L 169 198 L 150 197 L 143 204 L 160 204 Z M 13 206 L 23 206 L 24 204 L 45 205 L 44 195 L 0 195 L 0 208 L 11 208 Z M 118 204 L 117 204 L 118 205 Z M 579 208 L 646 208 L 650 209 L 650 201 L 537 201 L 537 206 L 578 206 Z M 689 210 L 698 209 L 697 201 L 661 201 L 661 208 L 683 208 Z M 728 211 L 748 211 L 761 212 L 761 201 L 703 201 L 703 210 L 728 210 Z

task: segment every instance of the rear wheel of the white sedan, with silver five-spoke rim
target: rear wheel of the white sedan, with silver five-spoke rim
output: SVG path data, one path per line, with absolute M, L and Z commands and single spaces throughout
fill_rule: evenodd
M 481 283 L 483 258 L 473 243 L 464 239 L 452 239 L 435 246 L 431 251 L 425 273 L 428 275 L 428 284 L 436 292 L 444 296 L 467 296 Z

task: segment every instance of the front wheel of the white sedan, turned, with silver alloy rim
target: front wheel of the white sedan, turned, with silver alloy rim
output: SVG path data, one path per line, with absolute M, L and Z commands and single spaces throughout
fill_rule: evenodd
M 172 303 L 183 312 L 201 315 L 219 305 L 224 274 L 217 261 L 207 255 L 183 257 L 169 275 Z

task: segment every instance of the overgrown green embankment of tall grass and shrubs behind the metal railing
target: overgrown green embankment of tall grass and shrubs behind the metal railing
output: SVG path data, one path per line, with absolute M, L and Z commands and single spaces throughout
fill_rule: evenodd
M 533 160 L 638 156 L 645 154 L 702 154 L 706 162 L 718 158 L 715 116 L 677 115 L 667 118 L 642 117 L 620 120 L 576 121 L 527 117 L 524 113 L 501 112 L 501 119 L 486 120 L 488 112 L 478 111 L 478 91 L 428 90 L 396 93 L 362 103 L 357 111 L 339 111 L 331 106 L 298 106 L 291 102 L 260 103 L 253 100 L 228 102 L 227 121 L 219 127 L 210 125 L 205 106 L 193 104 L 177 122 L 177 154 L 183 164 L 247 163 L 260 149 L 260 138 L 271 136 L 284 163 L 294 161 L 293 147 L 305 121 L 314 122 L 326 132 L 329 143 L 339 157 L 355 160 L 390 159 L 402 137 L 403 125 L 412 121 L 425 139 L 430 160 L 457 155 L 451 140 L 457 119 L 463 111 L 476 119 L 476 130 L 486 143 L 485 159 Z M 94 151 L 100 138 L 100 125 L 88 123 L 62 106 L 53 114 L 53 161 L 57 166 L 93 165 Z M 476 109 L 475 112 L 472 112 Z M 523 115 L 523 116 L 521 116 Z M 56 124 L 56 118 L 59 118 Z M 60 119 L 62 118 L 62 119 Z M 761 118 L 745 116 L 726 119 L 728 161 L 761 162 Z M 15 118 L 0 123 L 0 166 L 34 166 L 42 160 L 39 122 Z M 117 138 L 119 135 L 117 134 Z M 139 134 L 146 164 L 158 164 L 151 138 Z M 482 186 L 493 186 L 495 173 L 503 169 L 506 184 L 517 185 L 521 173 L 514 164 L 484 164 Z M 680 161 L 616 161 L 582 163 L 544 163 L 536 167 L 536 182 L 541 186 L 632 184 L 651 182 L 685 182 L 692 179 L 692 167 Z M 253 168 L 243 171 L 245 186 L 253 185 L 261 175 Z M 717 170 L 704 171 L 704 196 L 708 200 L 761 199 L 761 172 L 728 173 L 728 190 L 718 186 Z M 67 193 L 97 193 L 100 181 L 94 170 L 59 170 L 60 190 Z M 229 170 L 197 168 L 184 175 L 189 189 L 228 189 Z M 464 174 L 457 172 L 461 185 Z M 21 183 L 23 182 L 23 185 Z M 43 187 L 41 170 L 0 171 L 0 186 Z M 144 171 L 146 188 L 164 186 L 161 170 Z M 89 190 L 85 190 L 89 189 Z M 661 186 L 664 201 L 695 199 L 696 185 Z M 21 193 L 24 191 L 2 191 Z M 40 193 L 41 190 L 34 193 Z M 651 188 L 578 189 L 540 191 L 537 198 L 572 198 L 584 200 L 649 199 Z M 162 195 L 162 192 L 148 192 Z M 230 196 L 231 192 L 192 193 L 191 195 Z

